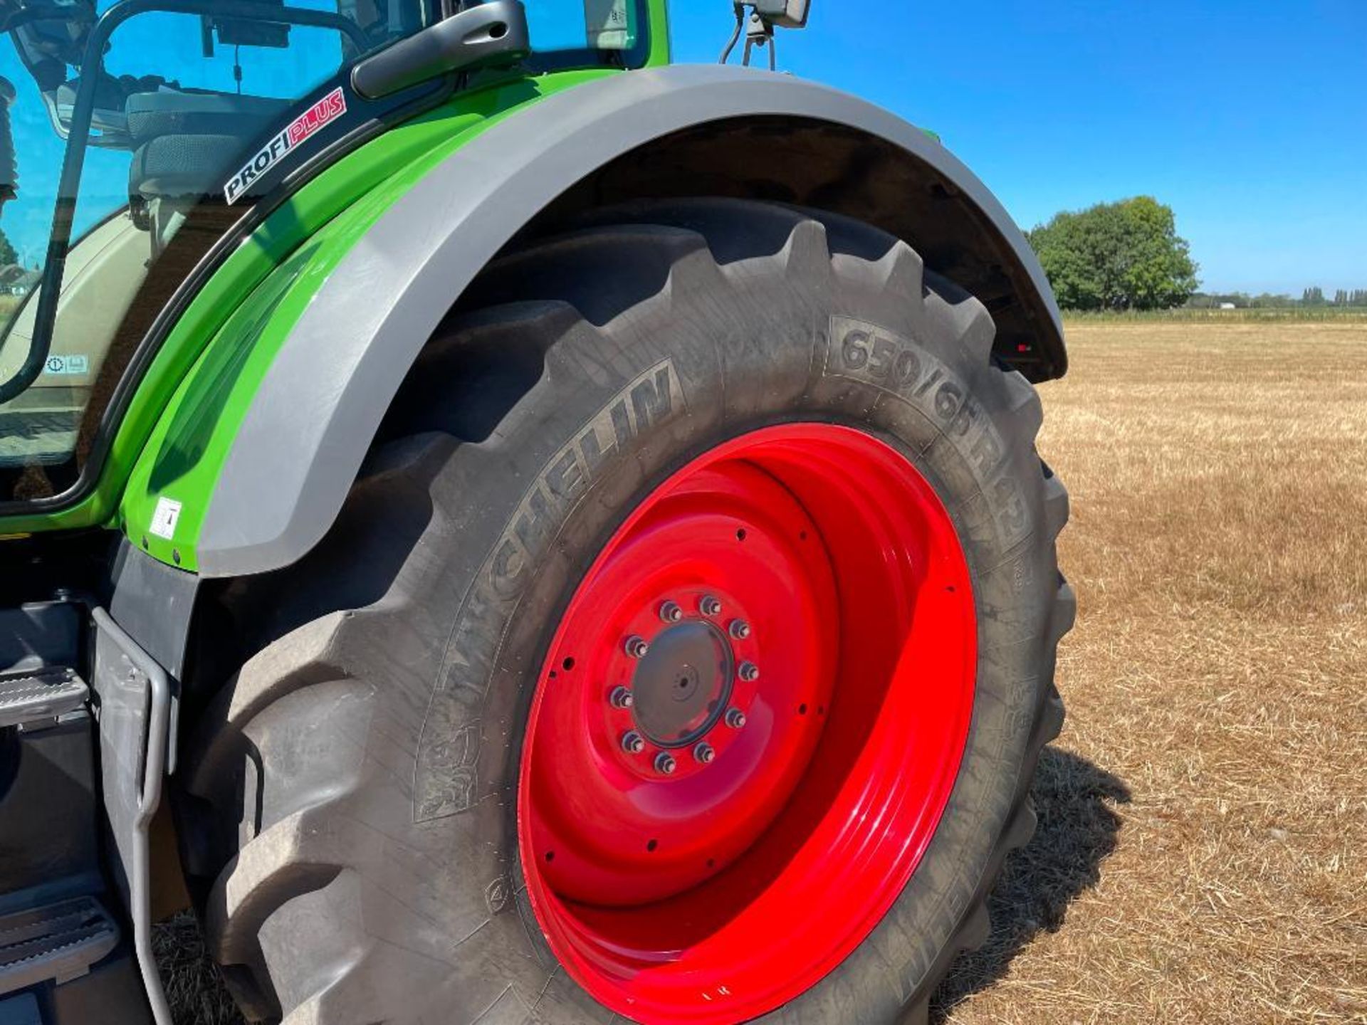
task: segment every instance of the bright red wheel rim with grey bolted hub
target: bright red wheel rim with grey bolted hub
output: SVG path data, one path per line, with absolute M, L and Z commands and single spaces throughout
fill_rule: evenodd
M 642 1022 L 801 995 L 916 871 L 975 676 L 964 552 L 906 456 L 830 424 L 700 456 L 617 530 L 548 649 L 518 842 L 551 950 Z

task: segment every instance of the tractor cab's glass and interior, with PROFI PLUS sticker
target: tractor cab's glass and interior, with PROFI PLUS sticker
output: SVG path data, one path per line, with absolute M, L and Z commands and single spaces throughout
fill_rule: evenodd
M 636 0 L 466 3 L 488 12 L 473 56 L 402 51 L 461 7 L 0 0 L 0 507 L 90 482 L 133 351 L 262 200 L 440 102 L 452 70 L 641 63 Z

